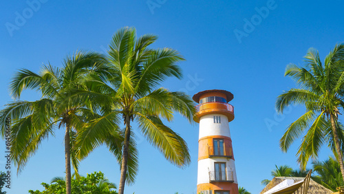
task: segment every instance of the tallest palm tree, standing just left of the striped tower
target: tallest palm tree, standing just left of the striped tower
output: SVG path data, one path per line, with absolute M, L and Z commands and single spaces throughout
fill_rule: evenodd
M 189 96 L 182 92 L 171 92 L 163 87 L 157 88 L 168 77 L 181 78 L 181 70 L 178 62 L 184 58 L 178 51 L 171 48 L 151 49 L 151 43 L 157 40 L 157 36 L 145 34 L 136 38 L 134 28 L 122 28 L 114 34 L 109 45 L 109 63 L 111 76 L 105 79 L 98 78 L 92 95 L 110 96 L 103 103 L 105 120 L 108 115 L 118 118 L 116 126 L 111 131 L 121 131 L 124 135 L 122 143 L 122 157 L 116 158 L 120 164 L 119 194 L 123 194 L 125 182 L 132 183 L 137 171 L 136 144 L 131 130 L 131 122 L 138 123 L 147 140 L 160 152 L 166 160 L 184 167 L 190 162 L 189 149 L 186 142 L 172 129 L 164 125 L 162 119 L 171 122 L 173 111 L 178 111 L 192 122 L 195 108 Z M 92 78 L 91 82 L 95 78 Z M 98 89 L 98 91 L 96 91 Z M 125 129 L 120 129 L 120 117 Z M 114 125 L 115 126 L 115 125 Z M 93 130 L 93 131 L 92 131 Z M 103 136 L 102 127 L 85 128 L 78 136 L 80 158 L 85 157 L 100 142 L 114 142 Z M 109 129 L 110 130 L 110 129 Z M 108 133 L 112 133 L 108 131 Z M 89 133 L 98 134 L 98 137 L 88 136 Z M 115 143 L 115 142 L 114 142 Z M 118 154 L 118 153 L 117 153 Z M 128 171 L 131 175 L 128 175 Z

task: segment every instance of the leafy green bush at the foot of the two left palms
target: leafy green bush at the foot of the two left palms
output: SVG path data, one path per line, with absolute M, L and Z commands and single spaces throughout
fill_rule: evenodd
M 42 183 L 45 187 L 44 191 L 32 191 L 31 194 L 64 194 L 66 193 L 65 188 L 65 179 L 62 177 L 54 177 L 51 184 Z M 92 193 L 92 194 L 117 194 L 116 185 L 109 182 L 104 177 L 104 174 L 101 172 L 94 172 L 92 174 L 87 174 L 87 177 L 80 177 L 78 180 L 72 179 L 72 194 L 83 194 L 83 193 Z

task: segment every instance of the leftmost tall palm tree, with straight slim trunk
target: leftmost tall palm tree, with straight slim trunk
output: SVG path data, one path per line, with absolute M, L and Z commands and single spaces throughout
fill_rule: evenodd
M 87 74 L 100 74 L 104 67 L 103 56 L 94 52 L 76 52 L 67 56 L 63 68 L 44 65 L 36 74 L 20 69 L 12 78 L 10 93 L 17 99 L 0 111 L 1 135 L 6 135 L 6 118 L 12 119 L 11 157 L 20 173 L 39 145 L 48 136 L 54 135 L 56 127 L 65 127 L 65 172 L 66 191 L 71 193 L 71 157 L 74 171 L 78 171 L 78 158 L 74 147 L 77 131 L 85 125 L 92 114 L 90 105 L 74 95 L 82 89 Z M 41 92 L 41 99 L 19 100 L 25 89 Z M 96 99 L 92 99 L 96 100 Z M 72 154 L 71 154 L 72 153 Z

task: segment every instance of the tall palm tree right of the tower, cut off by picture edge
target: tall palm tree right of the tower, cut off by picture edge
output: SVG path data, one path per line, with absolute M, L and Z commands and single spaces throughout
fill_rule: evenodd
M 285 74 L 292 77 L 300 89 L 284 91 L 278 96 L 276 107 L 283 113 L 289 105 L 299 104 L 305 105 L 306 112 L 288 126 L 279 145 L 282 151 L 288 151 L 290 144 L 306 131 L 297 152 L 301 169 L 305 169 L 309 158 L 317 158 L 326 142 L 338 158 L 344 175 L 343 130 L 338 123 L 339 111 L 344 106 L 344 45 L 336 45 L 325 57 L 324 64 L 314 49 L 310 49 L 304 58 L 305 67 L 290 64 Z

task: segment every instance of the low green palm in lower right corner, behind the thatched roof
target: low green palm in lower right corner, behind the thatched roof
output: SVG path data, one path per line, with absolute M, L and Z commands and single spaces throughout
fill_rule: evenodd
M 326 188 L 336 191 L 336 188 L 343 186 L 341 166 L 335 158 L 330 157 L 324 162 L 313 162 L 314 171 L 318 174 L 320 184 Z

